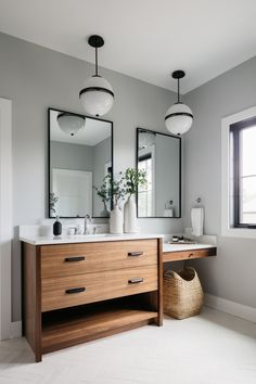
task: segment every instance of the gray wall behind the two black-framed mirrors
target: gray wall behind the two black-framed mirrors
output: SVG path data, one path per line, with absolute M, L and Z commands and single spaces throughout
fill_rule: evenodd
M 0 34 L 0 95 L 13 101 L 14 226 L 47 216 L 47 108 L 84 113 L 78 99 L 93 65 Z M 115 90 L 115 104 L 104 116 L 114 121 L 114 169 L 135 166 L 136 128 L 164 131 L 166 110 L 176 95 L 131 77 L 101 69 Z M 177 233 L 180 219 L 140 219 L 141 231 Z M 13 320 L 21 319 L 21 244 L 13 242 Z

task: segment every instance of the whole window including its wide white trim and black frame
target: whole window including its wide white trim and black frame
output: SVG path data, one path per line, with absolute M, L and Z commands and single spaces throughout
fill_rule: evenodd
M 256 106 L 221 120 L 221 234 L 256 239 Z

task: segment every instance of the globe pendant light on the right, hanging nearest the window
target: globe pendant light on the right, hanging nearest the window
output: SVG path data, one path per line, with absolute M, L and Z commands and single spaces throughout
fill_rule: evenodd
M 193 113 L 191 108 L 180 101 L 180 79 L 184 77 L 183 71 L 175 71 L 172 78 L 178 80 L 178 101 L 165 115 L 165 125 L 170 133 L 182 135 L 185 133 L 192 126 Z

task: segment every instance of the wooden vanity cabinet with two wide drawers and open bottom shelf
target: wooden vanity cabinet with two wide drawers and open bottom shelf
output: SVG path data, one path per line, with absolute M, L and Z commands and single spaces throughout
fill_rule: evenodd
M 23 243 L 23 333 L 42 354 L 162 325 L 162 240 Z

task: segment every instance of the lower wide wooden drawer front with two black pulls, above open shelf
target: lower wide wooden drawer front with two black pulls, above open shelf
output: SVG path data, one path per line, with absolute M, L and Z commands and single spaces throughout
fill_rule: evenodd
M 42 279 L 42 311 L 156 291 L 157 289 L 156 266 Z

